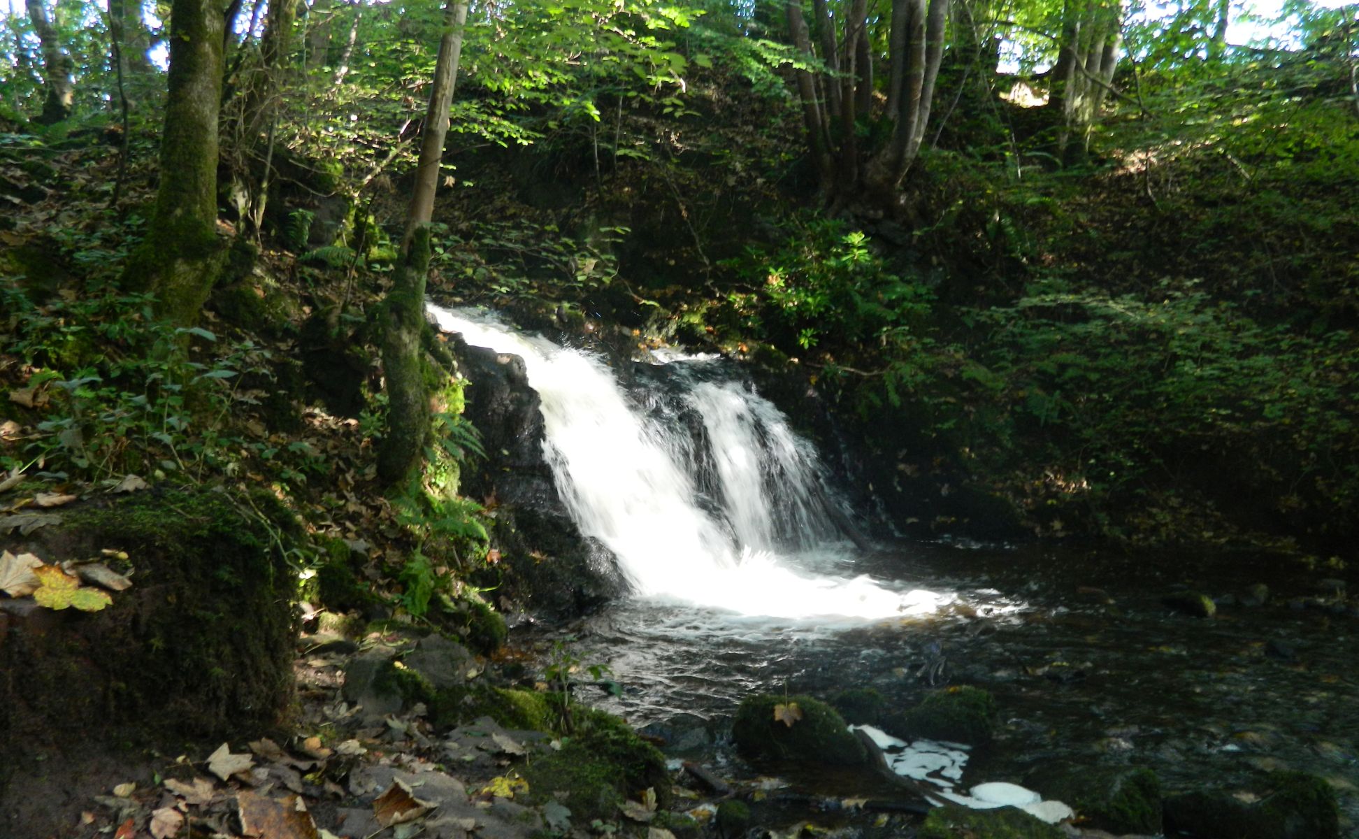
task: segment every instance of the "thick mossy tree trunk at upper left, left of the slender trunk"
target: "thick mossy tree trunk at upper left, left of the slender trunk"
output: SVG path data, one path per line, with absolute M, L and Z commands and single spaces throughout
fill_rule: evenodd
M 224 27 L 212 0 L 171 5 L 160 188 L 147 239 L 124 272 L 128 287 L 154 291 L 160 314 L 185 326 L 198 320 L 224 254 L 216 233 Z

